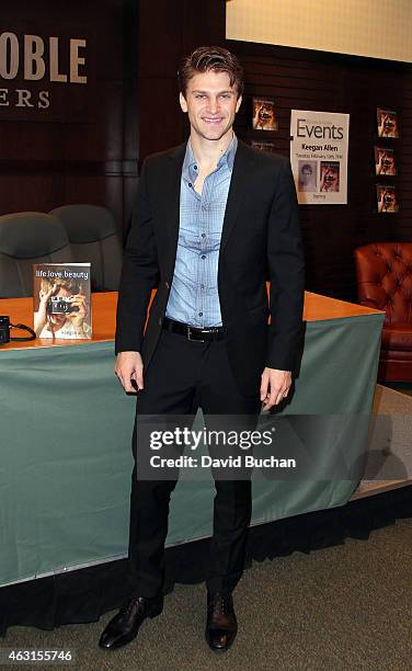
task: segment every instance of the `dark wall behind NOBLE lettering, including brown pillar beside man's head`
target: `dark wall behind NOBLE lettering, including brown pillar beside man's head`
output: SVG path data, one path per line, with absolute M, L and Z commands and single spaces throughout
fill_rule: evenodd
M 178 104 L 182 56 L 225 41 L 225 0 L 180 0 L 178 5 L 170 0 L 14 0 L 2 8 L 0 32 L 85 35 L 89 82 L 87 94 L 80 84 L 53 84 L 48 111 L 28 115 L 0 105 L 0 213 L 89 202 L 113 209 L 127 232 L 139 158 L 187 135 Z M 67 60 L 62 53 L 61 68 Z M 0 79 L 0 89 L 14 83 Z M 50 89 L 43 84 L 30 88 Z

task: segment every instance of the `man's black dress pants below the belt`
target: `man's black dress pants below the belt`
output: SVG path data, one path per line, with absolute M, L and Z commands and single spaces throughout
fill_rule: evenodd
M 251 425 L 260 412 L 261 401 L 259 389 L 254 396 L 245 396 L 239 389 L 222 340 L 196 342 L 163 330 L 146 375 L 144 372 L 144 380 L 145 389 L 137 396 L 133 441 L 129 581 L 131 595 L 152 598 L 162 589 L 169 502 L 176 479 L 139 479 L 136 450 L 149 448 L 138 440 L 139 417 L 194 416 L 201 407 L 206 425 L 207 414 L 244 416 L 244 421 Z M 250 479 L 215 479 L 215 488 L 206 585 L 210 592 L 227 594 L 234 589 L 243 571 L 252 505 L 251 482 Z

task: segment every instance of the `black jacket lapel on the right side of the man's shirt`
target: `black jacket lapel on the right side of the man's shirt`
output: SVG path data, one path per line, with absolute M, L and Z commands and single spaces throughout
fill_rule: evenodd
M 239 215 L 244 194 L 248 193 L 248 182 L 250 180 L 253 161 L 254 153 L 247 145 L 244 145 L 244 143 L 239 141 L 225 211 L 224 228 L 220 240 L 220 254 L 228 243 L 229 236 Z

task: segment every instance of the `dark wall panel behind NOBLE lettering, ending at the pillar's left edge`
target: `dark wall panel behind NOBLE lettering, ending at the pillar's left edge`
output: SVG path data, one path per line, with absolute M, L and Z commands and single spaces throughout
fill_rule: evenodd
M 137 181 L 138 7 L 136 0 L 14 0 L 2 7 L 1 31 L 45 38 L 87 37 L 87 84 L 0 79 L 0 88 L 47 89 L 49 110 L 0 106 L 0 213 L 48 212 L 65 203 L 110 207 L 119 229 Z M 46 42 L 47 45 L 47 42 Z M 126 60 L 127 58 L 127 60 Z M 46 49 L 47 61 L 47 49 Z M 61 49 L 66 71 L 68 49 Z M 130 78 L 133 82 L 130 83 Z M 131 91 L 131 96 L 130 96 Z M 11 93 L 10 93 L 11 94 Z M 127 113 L 126 113 L 127 107 Z M 127 137 L 133 141 L 125 144 Z

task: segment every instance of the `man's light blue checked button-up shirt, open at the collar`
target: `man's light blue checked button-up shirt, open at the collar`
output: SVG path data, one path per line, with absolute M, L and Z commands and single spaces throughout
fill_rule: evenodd
M 191 140 L 183 161 L 176 261 L 165 316 L 197 328 L 221 326 L 217 270 L 237 148 L 233 135 L 205 179 L 202 195 L 193 186 L 198 168 Z

